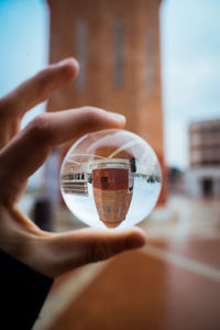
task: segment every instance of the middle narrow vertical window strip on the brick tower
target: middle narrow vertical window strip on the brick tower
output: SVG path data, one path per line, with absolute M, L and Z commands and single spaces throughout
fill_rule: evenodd
M 113 82 L 116 87 L 123 85 L 123 23 L 120 19 L 113 24 Z

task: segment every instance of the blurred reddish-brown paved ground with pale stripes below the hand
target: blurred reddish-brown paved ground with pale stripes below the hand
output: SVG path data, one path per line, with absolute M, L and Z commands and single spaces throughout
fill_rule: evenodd
M 219 200 L 172 198 L 142 227 L 144 249 L 58 278 L 34 330 L 219 330 Z

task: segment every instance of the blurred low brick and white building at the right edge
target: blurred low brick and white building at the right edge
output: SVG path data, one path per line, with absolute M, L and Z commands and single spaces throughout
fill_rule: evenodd
M 189 147 L 188 193 L 194 196 L 220 196 L 220 120 L 193 123 L 189 128 Z

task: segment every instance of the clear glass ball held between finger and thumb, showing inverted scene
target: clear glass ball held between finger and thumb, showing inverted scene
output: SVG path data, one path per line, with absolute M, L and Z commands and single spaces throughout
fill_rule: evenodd
M 124 130 L 80 138 L 61 169 L 63 198 L 84 223 L 127 229 L 148 216 L 158 199 L 162 175 L 153 148 Z

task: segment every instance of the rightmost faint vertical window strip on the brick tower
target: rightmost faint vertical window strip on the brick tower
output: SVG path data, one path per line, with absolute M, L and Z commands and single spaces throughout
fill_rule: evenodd
M 154 33 L 153 30 L 146 32 L 146 95 L 151 96 L 154 92 Z

